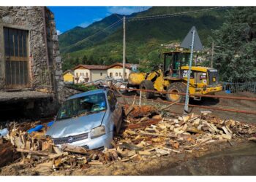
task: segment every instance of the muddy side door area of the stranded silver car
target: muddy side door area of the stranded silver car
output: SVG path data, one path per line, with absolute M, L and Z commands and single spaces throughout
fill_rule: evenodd
M 116 127 L 116 133 L 118 133 L 121 128 L 123 114 L 122 114 L 122 108 L 120 104 L 117 102 L 116 96 L 112 91 L 108 91 L 108 102 L 110 105 L 110 110 L 113 112 L 112 120 Z

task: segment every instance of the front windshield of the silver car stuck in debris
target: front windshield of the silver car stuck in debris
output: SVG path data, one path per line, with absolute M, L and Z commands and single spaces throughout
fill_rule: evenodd
M 65 101 L 56 120 L 67 119 L 74 116 L 93 114 L 97 111 L 104 111 L 107 108 L 105 94 L 86 95 L 80 98 L 73 98 Z

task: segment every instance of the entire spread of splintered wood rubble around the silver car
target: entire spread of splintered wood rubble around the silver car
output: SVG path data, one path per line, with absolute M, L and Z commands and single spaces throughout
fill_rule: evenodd
M 113 149 L 97 151 L 69 144 L 59 148 L 45 136 L 49 124 L 40 122 L 12 122 L 9 134 L 3 138 L 4 144 L 9 143 L 7 152 L 20 154 L 20 164 L 29 164 L 29 167 L 46 165 L 56 171 L 84 170 L 117 161 L 140 162 L 170 154 L 193 153 L 219 141 L 230 142 L 230 145 L 239 138 L 255 141 L 254 125 L 222 120 L 208 111 L 200 115 L 165 117 L 153 106 L 125 105 L 124 113 L 122 130 L 112 142 Z M 27 131 L 37 124 L 44 126 L 42 130 L 29 134 Z M 1 157 L 4 156 L 4 151 L 0 152 Z

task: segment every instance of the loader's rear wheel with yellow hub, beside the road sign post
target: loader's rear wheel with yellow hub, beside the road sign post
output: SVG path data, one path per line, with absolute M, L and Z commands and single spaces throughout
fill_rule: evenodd
M 183 84 L 182 82 L 175 82 L 173 84 L 170 84 L 169 87 L 167 87 L 167 92 L 178 92 L 178 93 L 186 93 L 187 87 L 186 84 Z M 167 100 L 170 100 L 172 102 L 178 101 L 178 103 L 184 103 L 186 96 L 185 95 L 177 95 L 177 94 L 167 94 L 166 95 Z

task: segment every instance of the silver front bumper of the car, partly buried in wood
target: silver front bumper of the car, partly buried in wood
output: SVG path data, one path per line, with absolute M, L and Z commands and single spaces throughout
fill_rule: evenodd
M 72 146 L 83 146 L 86 149 L 103 149 L 103 148 L 112 148 L 112 142 L 113 140 L 113 132 L 108 132 L 105 135 L 102 135 L 97 138 L 86 138 L 82 141 L 75 141 L 73 143 L 68 143 Z M 61 147 L 60 145 L 57 145 Z

